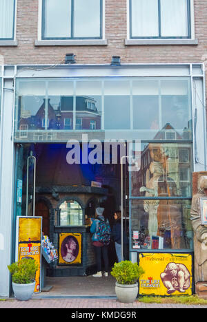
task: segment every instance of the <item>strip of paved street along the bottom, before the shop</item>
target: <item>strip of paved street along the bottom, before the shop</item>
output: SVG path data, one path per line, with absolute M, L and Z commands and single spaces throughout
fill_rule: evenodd
M 133 303 L 120 303 L 117 299 L 31 299 L 17 301 L 6 299 L 0 301 L 1 308 L 102 308 L 102 309 L 139 309 L 139 308 L 207 308 L 207 305 L 181 305 L 181 304 L 146 304 L 139 301 Z

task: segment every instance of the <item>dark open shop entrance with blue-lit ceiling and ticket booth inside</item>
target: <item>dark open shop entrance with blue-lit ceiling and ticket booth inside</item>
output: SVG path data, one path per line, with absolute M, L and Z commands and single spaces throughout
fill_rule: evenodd
M 17 146 L 17 180 L 21 180 L 22 187 L 16 205 L 18 215 L 26 214 L 27 202 L 28 215 L 32 215 L 35 201 L 34 215 L 43 218 L 43 235 L 48 236 L 57 249 L 58 259 L 45 263 L 43 286 L 52 286 L 50 294 L 115 294 L 115 280 L 111 276 L 108 279 L 92 277 L 96 272 L 96 261 L 90 219 L 95 217 L 95 208 L 102 207 L 104 217 L 113 226 L 113 215 L 121 208 L 120 164 L 68 164 L 67 153 L 66 144 L 27 143 Z M 34 164 L 30 164 L 28 171 L 30 155 L 36 160 L 35 180 Z M 124 186 L 127 186 L 128 178 L 124 178 Z M 128 219 L 124 226 L 128 233 Z M 77 253 L 71 262 L 66 261 L 63 254 L 69 237 L 77 242 Z M 108 247 L 108 257 L 110 270 L 117 261 L 114 241 Z M 124 248 L 124 257 L 128 259 L 127 247 Z

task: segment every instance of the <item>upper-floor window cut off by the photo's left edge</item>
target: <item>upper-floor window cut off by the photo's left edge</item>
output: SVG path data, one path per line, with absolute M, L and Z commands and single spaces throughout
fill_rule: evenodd
M 0 0 L 0 40 L 14 40 L 15 0 Z

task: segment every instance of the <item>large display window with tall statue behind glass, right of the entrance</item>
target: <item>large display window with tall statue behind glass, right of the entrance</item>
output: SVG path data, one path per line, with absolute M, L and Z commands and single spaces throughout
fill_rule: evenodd
M 130 173 L 132 250 L 193 249 L 190 143 L 141 143 Z

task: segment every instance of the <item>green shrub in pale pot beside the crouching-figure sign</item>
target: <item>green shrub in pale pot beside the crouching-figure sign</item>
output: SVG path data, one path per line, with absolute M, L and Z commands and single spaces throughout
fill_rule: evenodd
M 115 263 L 111 275 L 117 280 L 115 292 L 117 298 L 123 303 L 132 303 L 137 298 L 137 280 L 144 274 L 143 268 L 132 261 Z

